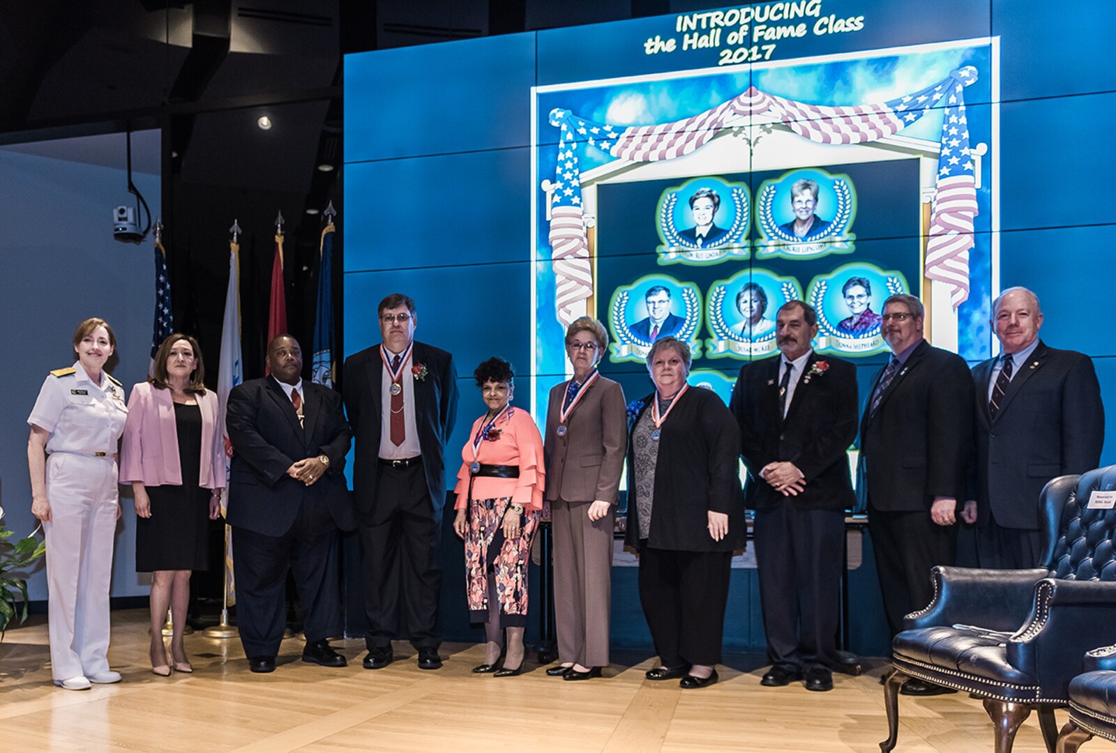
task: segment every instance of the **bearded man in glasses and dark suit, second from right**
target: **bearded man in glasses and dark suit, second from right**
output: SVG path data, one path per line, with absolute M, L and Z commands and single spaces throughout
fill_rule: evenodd
M 934 597 L 930 570 L 956 558 L 958 513 L 973 447 L 973 379 L 964 359 L 923 339 L 925 311 L 914 296 L 884 301 L 882 332 L 892 350 L 860 418 L 860 483 L 879 590 L 892 636 L 903 617 Z M 906 695 L 952 692 L 911 678 Z

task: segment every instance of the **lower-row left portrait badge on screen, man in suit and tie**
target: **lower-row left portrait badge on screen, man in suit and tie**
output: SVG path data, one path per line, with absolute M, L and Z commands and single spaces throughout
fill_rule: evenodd
M 617 288 L 608 306 L 613 361 L 642 361 L 652 344 L 667 336 L 689 344 L 696 358 L 701 310 L 698 286 L 667 274 L 647 274 Z

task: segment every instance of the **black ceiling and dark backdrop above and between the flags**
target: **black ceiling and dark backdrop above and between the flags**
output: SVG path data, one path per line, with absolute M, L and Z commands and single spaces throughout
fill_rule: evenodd
M 290 328 L 312 322 L 320 214 L 340 210 L 346 52 L 712 7 L 693 0 L 81 0 L 0 6 L 0 145 L 160 128 L 161 213 L 180 329 L 215 341 L 228 228 L 248 332 L 266 317 L 272 224 L 287 219 Z M 275 126 L 257 127 L 268 115 Z M 88 139 L 87 144 L 96 144 Z M 30 147 L 33 148 L 33 147 Z M 115 147 L 114 147 L 115 148 Z M 75 158 L 118 164 L 97 148 Z M 330 172 L 318 165 L 337 167 Z M 290 263 L 294 262 L 294 263 Z M 337 263 L 336 269 L 340 268 Z M 335 290 L 339 290 L 339 286 Z M 339 307 L 338 307 L 339 308 Z M 308 335 L 309 332 L 305 332 Z M 262 335 L 260 336 L 262 337 Z M 205 341 L 205 340 L 203 340 Z M 260 348 L 262 353 L 262 348 Z

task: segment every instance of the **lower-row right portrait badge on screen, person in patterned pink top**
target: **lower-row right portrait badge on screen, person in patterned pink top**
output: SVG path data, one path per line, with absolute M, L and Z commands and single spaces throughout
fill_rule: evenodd
M 881 312 L 888 296 L 908 292 L 901 272 L 853 262 L 810 281 L 806 302 L 818 312 L 815 349 L 865 356 L 886 349 Z

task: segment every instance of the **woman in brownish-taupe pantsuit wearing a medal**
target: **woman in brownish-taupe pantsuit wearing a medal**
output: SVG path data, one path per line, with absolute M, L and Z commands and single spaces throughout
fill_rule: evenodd
M 555 611 L 562 679 L 599 677 L 608 664 L 613 524 L 627 451 L 624 390 L 597 371 L 604 326 L 581 317 L 566 330 L 574 378 L 550 390 L 546 499 L 554 529 Z

